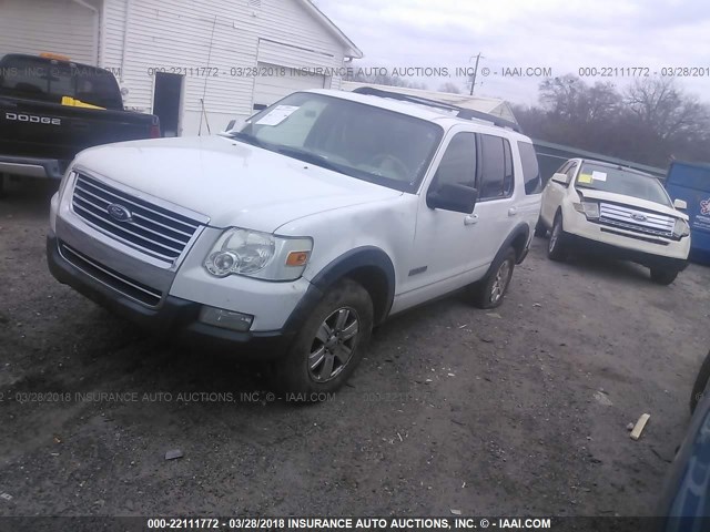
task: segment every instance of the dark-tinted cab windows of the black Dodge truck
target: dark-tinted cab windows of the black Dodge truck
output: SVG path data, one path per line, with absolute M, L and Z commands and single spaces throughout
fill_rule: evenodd
M 0 94 L 52 103 L 70 96 L 100 108 L 123 109 L 119 85 L 108 70 L 24 55 L 3 58 Z

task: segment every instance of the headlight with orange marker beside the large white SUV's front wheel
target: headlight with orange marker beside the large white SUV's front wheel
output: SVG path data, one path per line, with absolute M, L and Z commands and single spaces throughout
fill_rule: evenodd
M 284 238 L 233 227 L 226 229 L 204 259 L 215 277 L 245 275 L 268 280 L 294 280 L 308 263 L 311 238 Z

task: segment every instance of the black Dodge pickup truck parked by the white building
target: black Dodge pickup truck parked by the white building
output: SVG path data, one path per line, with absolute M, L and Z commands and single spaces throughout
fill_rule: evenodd
M 158 116 L 124 111 L 108 70 L 57 57 L 0 59 L 0 192 L 2 174 L 59 180 L 87 147 L 156 136 Z

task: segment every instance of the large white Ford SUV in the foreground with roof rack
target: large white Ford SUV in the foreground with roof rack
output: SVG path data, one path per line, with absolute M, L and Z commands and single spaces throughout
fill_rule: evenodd
M 540 208 L 530 140 L 369 92 L 82 152 L 51 203 L 52 274 L 171 338 L 276 358 L 302 393 L 339 387 L 388 316 L 459 288 L 499 305 Z

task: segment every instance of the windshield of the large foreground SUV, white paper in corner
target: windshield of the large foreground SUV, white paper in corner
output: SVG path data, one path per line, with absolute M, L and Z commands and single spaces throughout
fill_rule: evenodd
M 254 115 L 237 140 L 364 181 L 416 192 L 443 130 L 339 98 L 292 94 Z

